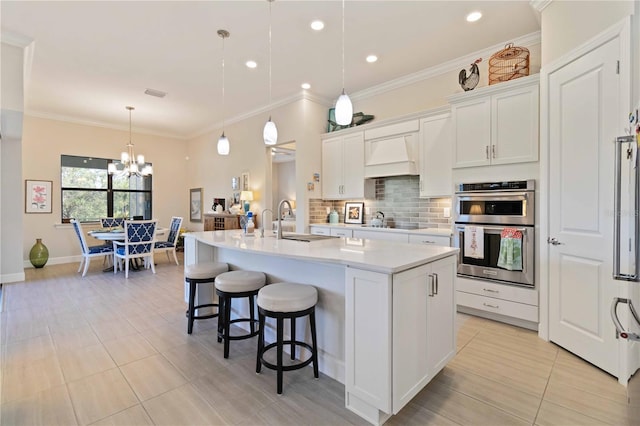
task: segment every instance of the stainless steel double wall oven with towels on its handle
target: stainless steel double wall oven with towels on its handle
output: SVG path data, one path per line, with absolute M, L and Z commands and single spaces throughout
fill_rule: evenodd
M 458 275 L 533 287 L 535 251 L 535 181 L 462 183 L 454 198 L 454 244 L 460 248 Z M 480 253 L 469 253 L 465 235 L 474 227 L 482 235 Z M 500 267 L 498 257 L 505 228 L 519 231 L 522 267 Z

